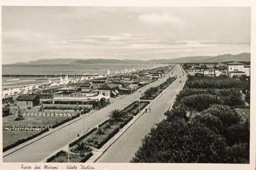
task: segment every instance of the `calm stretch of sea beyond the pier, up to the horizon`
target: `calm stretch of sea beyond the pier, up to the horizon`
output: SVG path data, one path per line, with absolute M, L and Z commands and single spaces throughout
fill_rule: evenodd
M 110 72 L 124 71 L 125 68 L 141 69 L 160 66 L 161 64 L 86 64 L 86 65 L 2 65 L 2 74 L 30 74 L 30 75 L 53 75 L 53 74 L 106 74 Z

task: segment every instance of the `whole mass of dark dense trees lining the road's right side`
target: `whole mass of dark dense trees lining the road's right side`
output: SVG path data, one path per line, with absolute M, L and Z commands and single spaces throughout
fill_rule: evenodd
M 246 108 L 243 84 L 224 76 L 189 76 L 164 113 L 167 119 L 150 130 L 130 162 L 249 163 L 250 121 L 234 109 Z

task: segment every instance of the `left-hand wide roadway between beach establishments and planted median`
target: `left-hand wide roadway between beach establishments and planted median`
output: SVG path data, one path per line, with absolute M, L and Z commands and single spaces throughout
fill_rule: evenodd
M 158 81 L 153 82 L 152 84 L 143 87 L 141 92 L 143 93 L 149 87 L 154 87 L 160 83 L 166 81 L 168 77 L 159 79 Z M 107 118 L 108 112 L 114 109 L 123 109 L 129 105 L 135 99 L 141 97 L 141 93 L 136 92 L 132 95 L 127 95 L 126 97 L 108 105 L 107 107 L 92 113 L 89 117 L 84 117 L 84 128 L 92 128 L 98 125 L 100 122 L 104 121 Z M 111 99 L 110 99 L 111 101 Z M 40 162 L 50 154 L 54 153 L 56 150 L 64 147 L 68 144 L 68 128 L 70 129 L 70 141 L 74 140 L 77 137 L 77 134 L 82 133 L 83 119 L 76 121 L 52 134 L 32 143 L 12 154 L 9 154 L 3 158 L 3 162 Z M 77 132 L 78 131 L 78 132 Z

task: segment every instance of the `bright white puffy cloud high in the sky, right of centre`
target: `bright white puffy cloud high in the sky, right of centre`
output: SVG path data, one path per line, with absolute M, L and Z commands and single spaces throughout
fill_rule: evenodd
M 177 17 L 170 16 L 167 13 L 159 14 L 142 14 L 138 19 L 147 24 L 183 24 L 184 22 Z

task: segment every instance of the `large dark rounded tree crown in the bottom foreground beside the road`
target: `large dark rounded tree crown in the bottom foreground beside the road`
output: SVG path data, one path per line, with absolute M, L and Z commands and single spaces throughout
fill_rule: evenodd
M 162 121 L 145 136 L 131 162 L 222 163 L 225 139 L 182 118 Z

